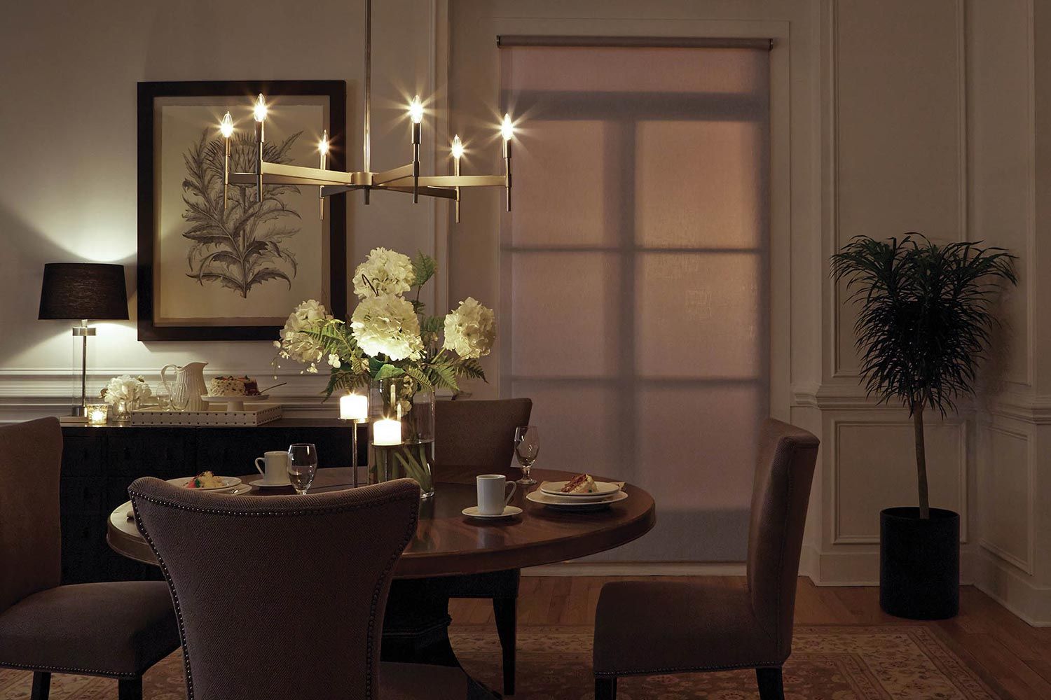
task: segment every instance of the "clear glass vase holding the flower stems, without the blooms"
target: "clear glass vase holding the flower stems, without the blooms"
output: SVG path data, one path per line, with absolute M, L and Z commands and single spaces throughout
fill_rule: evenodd
M 409 478 L 419 484 L 420 499 L 434 495 L 434 391 L 421 389 L 403 375 L 373 380 L 369 390 L 369 483 Z M 376 421 L 400 422 L 400 442 L 389 432 L 376 444 Z M 387 424 L 390 427 L 390 424 Z

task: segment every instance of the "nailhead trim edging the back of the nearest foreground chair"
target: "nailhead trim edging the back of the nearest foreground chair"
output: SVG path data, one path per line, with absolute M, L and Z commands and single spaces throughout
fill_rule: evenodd
M 167 501 L 167 500 L 164 500 L 164 499 L 154 499 L 152 496 L 147 496 L 147 495 L 145 495 L 145 494 L 143 494 L 143 493 L 141 493 L 139 491 L 135 491 L 132 489 L 128 489 L 128 494 L 131 495 L 131 496 L 135 496 L 135 497 L 131 499 L 131 509 L 135 511 L 136 526 L 142 532 L 142 535 L 146 539 L 146 543 L 149 545 L 149 548 L 153 551 L 153 555 L 157 557 L 158 563 L 161 565 L 161 571 L 164 573 L 164 578 L 165 578 L 166 581 L 168 581 L 168 589 L 171 591 L 171 600 L 174 603 L 176 617 L 179 620 L 179 638 L 180 638 L 180 640 L 183 643 L 183 666 L 186 670 L 186 698 L 187 698 L 187 700 L 193 700 L 193 675 L 192 675 L 192 672 L 190 670 L 190 652 L 189 652 L 189 646 L 186 643 L 186 628 L 183 625 L 183 611 L 182 611 L 182 606 L 179 602 L 179 595 L 176 593 L 176 585 L 171 580 L 171 574 L 168 573 L 168 567 L 164 563 L 163 557 L 161 557 L 160 552 L 157 551 L 157 547 L 153 545 L 152 537 L 149 536 L 149 532 L 146 531 L 146 528 L 142 524 L 142 518 L 139 516 L 139 507 L 138 507 L 138 504 L 136 503 L 136 497 L 141 499 L 141 500 L 143 500 L 143 501 L 145 501 L 147 503 L 157 504 L 159 506 L 166 506 L 166 507 L 169 507 L 169 508 L 174 508 L 177 510 L 186 510 L 186 511 L 195 512 L 195 513 L 205 513 L 205 514 L 208 514 L 208 515 L 248 515 L 248 516 L 256 516 L 256 515 L 259 515 L 259 516 L 264 516 L 264 515 L 268 515 L 268 516 L 269 515 L 283 516 L 283 515 L 304 515 L 304 514 L 311 514 L 311 515 L 326 514 L 327 515 L 327 514 L 331 514 L 331 513 L 344 513 L 344 512 L 351 511 L 351 510 L 358 510 L 360 508 L 371 508 L 373 506 L 382 506 L 382 505 L 386 505 L 388 503 L 396 503 L 398 501 L 405 501 L 406 500 L 405 496 L 397 495 L 397 496 L 389 496 L 387 499 L 384 499 L 383 501 L 372 501 L 372 502 L 369 502 L 368 504 L 350 504 L 350 505 L 346 505 L 346 506 L 339 506 L 339 507 L 333 507 L 333 508 L 325 508 L 325 509 L 322 509 L 322 510 L 250 510 L 250 511 L 242 511 L 242 510 L 227 510 L 227 509 L 222 509 L 222 508 L 201 508 L 201 507 L 186 506 L 186 505 L 183 505 L 183 504 L 180 504 L 180 503 L 174 503 L 172 501 Z M 371 601 L 371 604 L 369 607 L 369 625 L 368 625 L 368 634 L 369 634 L 369 636 L 368 636 L 368 648 L 367 648 L 367 654 L 368 654 L 368 658 L 370 660 L 372 658 L 374 658 L 373 657 L 374 650 L 373 650 L 372 639 L 373 639 L 373 636 L 374 636 L 373 632 L 374 632 L 375 625 L 376 625 L 376 609 L 378 608 L 379 593 L 380 593 L 380 589 L 383 588 L 383 579 L 386 578 L 388 572 L 390 572 L 390 570 L 394 568 L 394 565 L 397 563 L 398 557 L 401 556 L 401 551 L 409 545 L 409 540 L 412 538 L 413 533 L 416 532 L 416 525 L 418 523 L 418 519 L 419 519 L 419 514 L 417 512 L 417 513 L 413 514 L 413 516 L 412 516 L 412 518 L 411 518 L 411 521 L 409 523 L 409 527 L 406 528 L 406 534 L 405 534 L 405 537 L 401 540 L 401 548 L 387 563 L 387 566 L 384 568 L 383 574 L 379 576 L 379 582 L 376 585 L 376 588 L 372 592 L 372 601 Z M 366 674 L 366 676 L 365 676 L 366 697 L 367 698 L 372 698 L 373 697 L 373 679 L 372 679 L 372 664 L 371 663 L 366 666 L 365 674 Z M 132 676 L 132 677 L 135 677 L 135 676 Z

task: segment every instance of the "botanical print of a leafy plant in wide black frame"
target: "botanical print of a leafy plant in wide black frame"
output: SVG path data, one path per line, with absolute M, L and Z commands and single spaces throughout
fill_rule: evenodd
M 316 167 L 328 131 L 344 169 L 344 81 L 139 83 L 139 340 L 274 340 L 303 299 L 346 317 L 346 195 L 224 187 L 220 121 L 230 172 L 254 172 L 260 93 L 266 161 Z

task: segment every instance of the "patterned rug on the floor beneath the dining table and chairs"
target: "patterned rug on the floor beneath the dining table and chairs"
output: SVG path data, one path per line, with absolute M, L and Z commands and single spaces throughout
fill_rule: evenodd
M 465 669 L 500 687 L 499 643 L 491 625 L 453 629 L 453 646 Z M 590 628 L 518 631 L 518 692 L 535 700 L 591 700 Z M 785 665 L 787 700 L 1010 700 L 956 656 L 933 627 L 829 625 L 796 629 Z M 0 670 L 0 700 L 29 697 L 30 675 Z M 624 678 L 620 700 L 758 700 L 753 672 Z M 185 698 L 177 652 L 146 674 L 147 700 Z M 114 700 L 117 682 L 86 676 L 54 676 L 54 700 Z

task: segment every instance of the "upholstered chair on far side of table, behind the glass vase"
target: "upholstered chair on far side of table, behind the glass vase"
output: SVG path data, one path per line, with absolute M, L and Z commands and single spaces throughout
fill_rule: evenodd
M 439 401 L 434 409 L 434 462 L 441 481 L 473 484 L 477 474 L 521 476 L 511 467 L 515 428 L 529 425 L 533 401 Z M 492 598 L 496 635 L 503 662 L 503 694 L 515 694 L 518 636 L 518 569 L 456 576 L 449 581 L 454 598 Z

